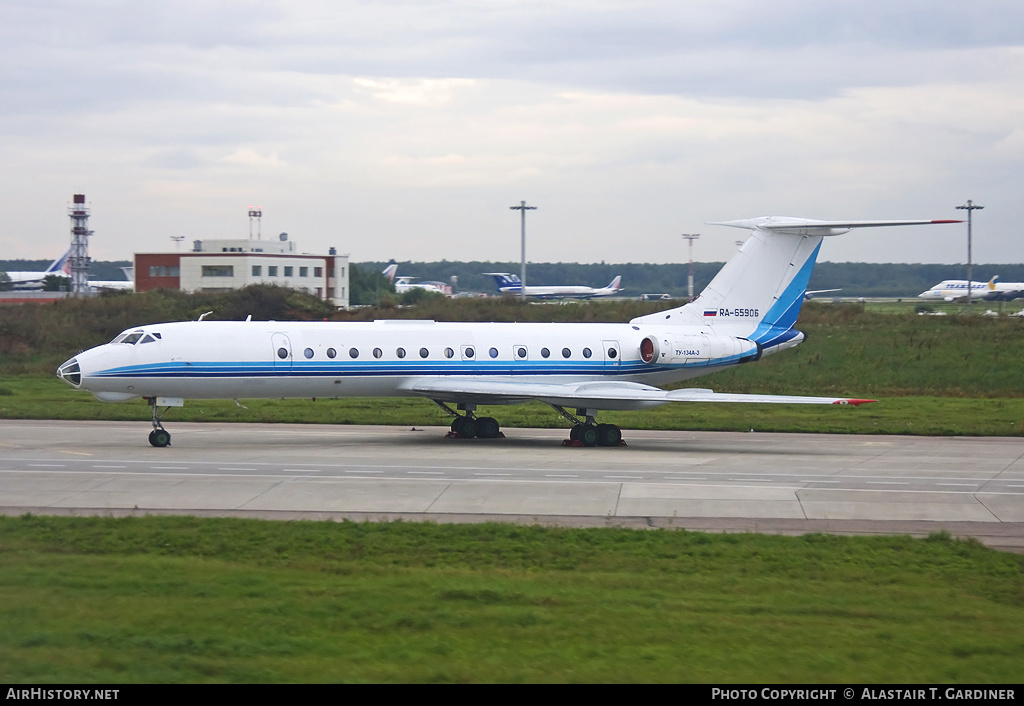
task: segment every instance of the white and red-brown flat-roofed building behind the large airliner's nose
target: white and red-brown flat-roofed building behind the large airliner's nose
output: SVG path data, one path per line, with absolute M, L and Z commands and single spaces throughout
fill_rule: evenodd
M 348 307 L 348 255 L 297 252 L 272 240 L 197 240 L 187 253 L 135 253 L 135 291 L 224 292 L 252 284 L 289 287 Z

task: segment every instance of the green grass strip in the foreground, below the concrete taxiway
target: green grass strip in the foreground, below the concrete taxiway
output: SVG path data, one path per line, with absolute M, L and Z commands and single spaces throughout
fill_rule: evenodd
M 1020 681 L 1024 557 L 946 535 L 0 517 L 0 680 Z

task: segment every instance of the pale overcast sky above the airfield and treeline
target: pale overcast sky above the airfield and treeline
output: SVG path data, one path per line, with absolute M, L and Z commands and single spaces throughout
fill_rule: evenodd
M 759 215 L 1022 262 L 1020 0 L 3 0 L 2 257 L 289 233 L 353 261 L 723 260 Z M 966 262 L 966 225 L 834 261 Z M 994 273 L 993 273 L 994 274 Z M 985 275 L 982 273 L 982 275 Z M 988 275 L 985 275 L 987 277 Z

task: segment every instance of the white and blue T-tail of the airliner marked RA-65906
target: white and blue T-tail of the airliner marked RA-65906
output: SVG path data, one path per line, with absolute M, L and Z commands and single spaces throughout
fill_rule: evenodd
M 793 339 L 821 239 L 855 227 L 956 223 L 957 220 L 822 221 L 762 217 L 713 225 L 753 231 L 700 295 L 688 304 L 634 319 L 643 324 L 696 324 L 729 329 L 768 348 Z

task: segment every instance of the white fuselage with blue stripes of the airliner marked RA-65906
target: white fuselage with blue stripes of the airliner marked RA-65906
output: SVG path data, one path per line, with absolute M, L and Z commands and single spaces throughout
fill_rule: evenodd
M 424 394 L 413 386 L 438 378 L 662 385 L 757 360 L 760 352 L 744 338 L 689 326 L 183 322 L 126 331 L 69 361 L 77 363 L 73 375 L 80 378 L 60 375 L 112 402 L 404 396 L 458 402 L 457 394 Z M 509 402 L 521 400 L 493 404 Z M 617 408 L 629 407 L 609 409 Z

